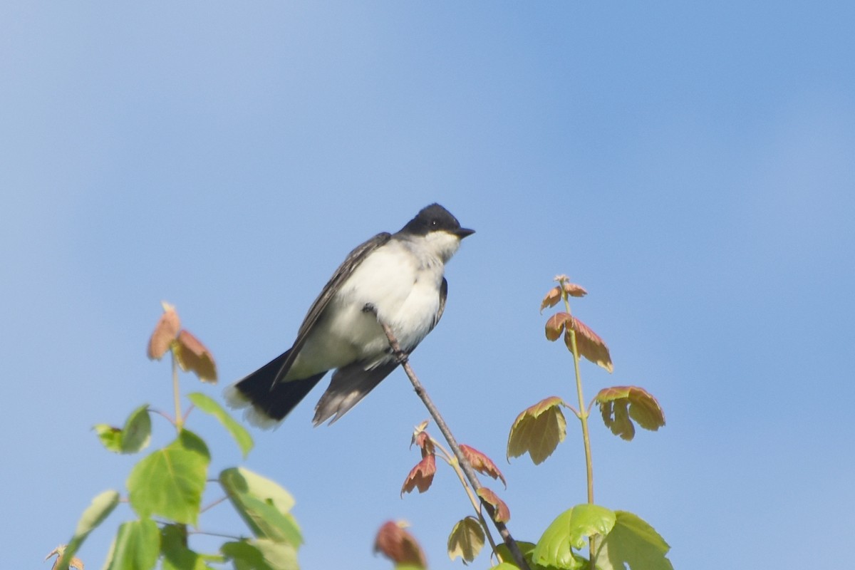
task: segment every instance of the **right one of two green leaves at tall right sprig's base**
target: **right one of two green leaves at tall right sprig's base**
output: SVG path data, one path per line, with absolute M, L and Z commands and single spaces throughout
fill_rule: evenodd
M 615 527 L 597 551 L 602 570 L 674 570 L 665 557 L 670 549 L 652 526 L 635 514 L 615 511 Z

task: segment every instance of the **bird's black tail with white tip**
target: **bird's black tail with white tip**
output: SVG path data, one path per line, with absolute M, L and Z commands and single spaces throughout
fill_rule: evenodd
M 232 408 L 246 408 L 245 418 L 254 426 L 277 426 L 325 374 L 276 382 L 276 376 L 287 356 L 288 352 L 277 356 L 226 389 L 228 405 Z

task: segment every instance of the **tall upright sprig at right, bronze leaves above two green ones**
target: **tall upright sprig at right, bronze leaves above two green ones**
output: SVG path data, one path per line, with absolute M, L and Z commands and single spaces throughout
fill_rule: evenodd
M 568 408 L 581 425 L 585 449 L 587 502 L 559 514 L 547 527 L 540 540 L 527 551 L 529 561 L 536 568 L 557 567 L 567 570 L 599 568 L 621 570 L 628 565 L 632 570 L 669 570 L 671 563 L 665 557 L 668 544 L 638 516 L 619 510 L 610 510 L 595 504 L 593 492 L 593 457 L 590 438 L 590 412 L 597 403 L 605 426 L 623 439 L 634 438 L 634 423 L 656 431 L 665 425 L 662 408 L 656 398 L 638 386 L 615 386 L 598 392 L 585 405 L 582 391 L 581 358 L 592 361 L 608 372 L 613 365 L 608 347 L 597 333 L 577 319 L 570 311 L 570 297 L 584 297 L 587 291 L 569 281 L 566 275 L 555 279 L 558 285 L 548 291 L 540 304 L 543 309 L 563 302 L 564 311 L 553 314 L 545 325 L 547 340 L 564 340 L 573 359 L 575 395 L 578 408 L 570 406 L 561 397 L 547 397 L 526 408 L 516 417 L 508 436 L 508 458 L 528 453 L 534 464 L 539 464 L 563 442 L 567 422 L 561 408 Z M 587 542 L 588 558 L 577 551 Z

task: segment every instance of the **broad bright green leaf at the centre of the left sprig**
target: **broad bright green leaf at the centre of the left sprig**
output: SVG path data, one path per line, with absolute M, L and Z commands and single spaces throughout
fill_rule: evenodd
M 203 440 L 182 430 L 172 444 L 152 452 L 133 467 L 127 478 L 133 510 L 142 518 L 159 514 L 195 525 L 209 461 Z

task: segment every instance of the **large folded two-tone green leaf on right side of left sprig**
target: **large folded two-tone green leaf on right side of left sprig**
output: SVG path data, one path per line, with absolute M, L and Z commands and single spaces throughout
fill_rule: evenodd
M 220 485 L 257 538 L 269 538 L 295 547 L 303 544 L 297 520 L 288 514 L 294 499 L 280 485 L 243 467 L 232 467 L 220 473 Z

